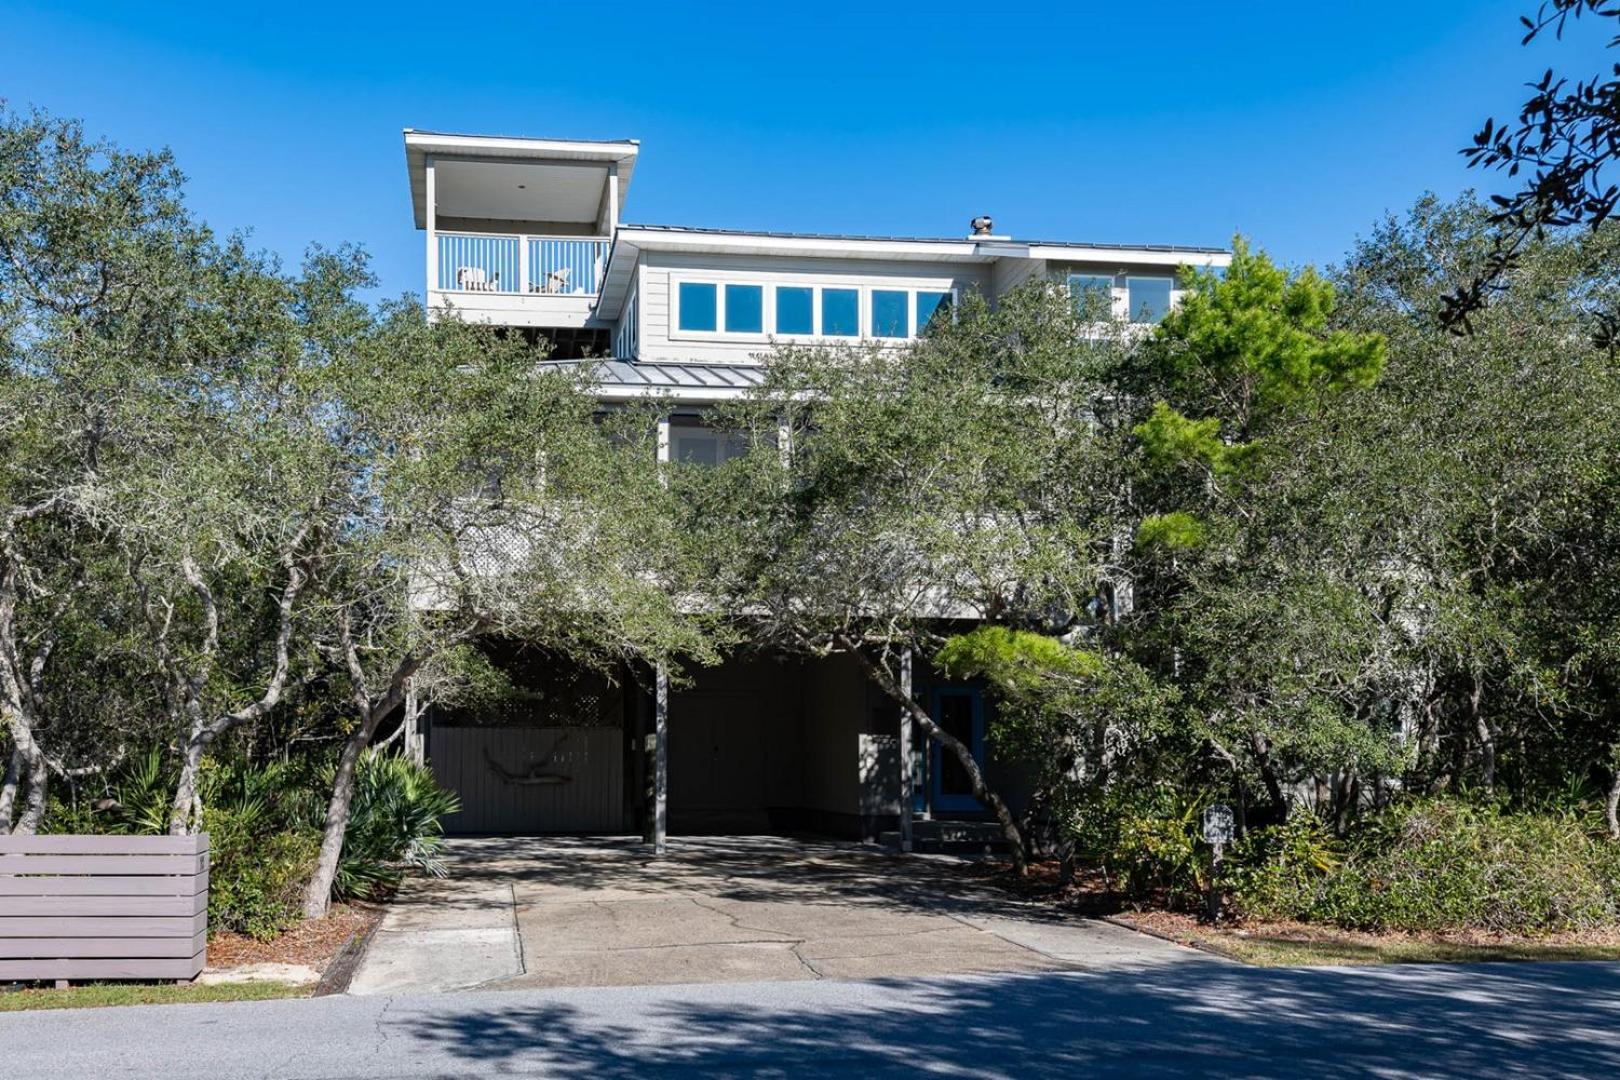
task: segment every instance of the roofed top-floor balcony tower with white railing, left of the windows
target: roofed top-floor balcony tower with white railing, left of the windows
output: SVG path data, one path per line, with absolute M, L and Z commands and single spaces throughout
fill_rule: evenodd
M 405 131 L 434 313 L 585 327 L 638 144 Z

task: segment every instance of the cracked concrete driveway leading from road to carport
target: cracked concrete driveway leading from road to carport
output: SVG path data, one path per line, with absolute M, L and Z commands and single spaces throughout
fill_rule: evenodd
M 951 860 L 776 837 L 463 839 L 411 879 L 353 994 L 1212 963 L 972 882 Z

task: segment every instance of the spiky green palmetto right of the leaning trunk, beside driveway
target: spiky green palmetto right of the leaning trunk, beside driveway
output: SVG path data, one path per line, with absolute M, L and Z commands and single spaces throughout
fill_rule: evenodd
M 444 876 L 447 814 L 460 810 L 433 771 L 403 758 L 366 753 L 355 771 L 355 800 L 337 866 L 337 894 L 376 900 L 399 887 L 405 871 Z

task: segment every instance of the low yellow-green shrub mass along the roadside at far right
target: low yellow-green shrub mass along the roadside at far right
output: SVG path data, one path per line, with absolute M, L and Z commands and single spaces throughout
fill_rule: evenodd
M 1413 800 L 1349 837 L 1338 865 L 1301 858 L 1320 831 L 1257 837 L 1234 874 L 1251 915 L 1358 929 L 1545 933 L 1612 925 L 1620 853 L 1580 821 Z

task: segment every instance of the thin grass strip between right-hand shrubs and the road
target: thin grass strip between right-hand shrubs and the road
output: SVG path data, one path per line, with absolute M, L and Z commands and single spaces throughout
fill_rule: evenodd
M 1257 967 L 1620 960 L 1617 933 L 1544 938 L 1401 934 L 1307 923 L 1251 923 L 1217 929 L 1171 912 L 1139 912 L 1119 916 L 1119 921 Z

